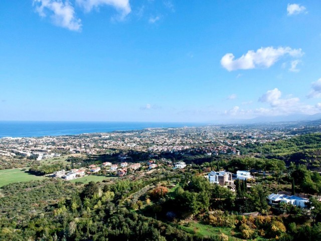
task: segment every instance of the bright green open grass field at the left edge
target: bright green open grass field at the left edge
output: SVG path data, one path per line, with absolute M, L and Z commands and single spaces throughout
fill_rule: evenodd
M 14 182 L 28 182 L 32 180 L 41 180 L 46 177 L 35 176 L 22 171 L 23 168 L 0 170 L 0 187 Z

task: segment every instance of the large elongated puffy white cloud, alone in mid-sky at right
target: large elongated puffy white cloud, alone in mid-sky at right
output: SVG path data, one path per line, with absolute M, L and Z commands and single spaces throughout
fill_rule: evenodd
M 222 57 L 221 65 L 228 71 L 254 69 L 257 67 L 269 68 L 284 55 L 301 57 L 303 54 L 301 49 L 292 49 L 290 47 L 261 47 L 256 52 L 249 50 L 238 59 L 234 59 L 235 56 L 232 53 L 227 53 Z

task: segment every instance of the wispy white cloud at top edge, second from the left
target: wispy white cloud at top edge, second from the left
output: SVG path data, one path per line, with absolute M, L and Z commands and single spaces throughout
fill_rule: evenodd
M 76 3 L 81 6 L 85 12 L 90 12 L 93 8 L 99 8 L 103 5 L 112 6 L 121 13 L 121 19 L 125 18 L 131 12 L 129 0 L 76 0 Z

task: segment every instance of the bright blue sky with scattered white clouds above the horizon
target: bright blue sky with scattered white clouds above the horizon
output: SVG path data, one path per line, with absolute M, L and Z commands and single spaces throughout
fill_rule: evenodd
M 0 3 L 0 120 L 321 112 L 319 1 Z

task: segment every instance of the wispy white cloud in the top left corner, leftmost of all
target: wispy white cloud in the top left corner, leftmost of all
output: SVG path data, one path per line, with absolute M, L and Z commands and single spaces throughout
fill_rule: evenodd
M 81 20 L 75 16 L 75 10 L 68 1 L 61 0 L 34 0 L 36 12 L 41 17 L 50 16 L 57 26 L 72 30 L 81 30 Z

